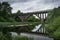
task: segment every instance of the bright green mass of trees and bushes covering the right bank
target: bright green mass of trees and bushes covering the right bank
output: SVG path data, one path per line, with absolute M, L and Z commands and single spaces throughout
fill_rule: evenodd
M 54 40 L 60 40 L 60 7 L 54 8 L 49 12 L 46 25 L 46 31 Z

